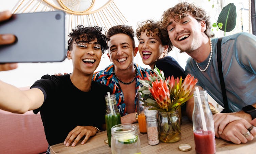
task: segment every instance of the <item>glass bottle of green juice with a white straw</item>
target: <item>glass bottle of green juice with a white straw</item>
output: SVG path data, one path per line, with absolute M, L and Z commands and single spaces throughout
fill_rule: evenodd
M 107 128 L 107 135 L 108 135 L 108 146 L 111 147 L 111 127 L 121 124 L 121 116 L 120 112 L 116 106 L 116 99 L 115 95 L 108 95 L 105 96 L 106 100 L 106 128 Z

